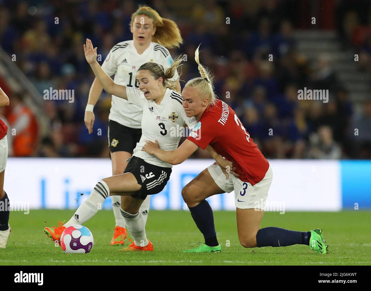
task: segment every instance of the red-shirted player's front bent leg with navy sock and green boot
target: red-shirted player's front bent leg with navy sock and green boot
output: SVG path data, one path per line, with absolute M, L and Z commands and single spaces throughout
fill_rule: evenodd
M 205 200 L 207 197 L 224 193 L 214 182 L 209 170 L 205 169 L 189 182 L 182 190 L 192 218 L 204 236 L 205 243 L 196 249 L 185 252 L 220 252 L 221 246 L 216 238 L 213 210 Z

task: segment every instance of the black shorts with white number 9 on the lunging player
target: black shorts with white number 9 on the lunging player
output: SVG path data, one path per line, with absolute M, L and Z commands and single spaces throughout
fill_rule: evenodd
M 142 158 L 132 157 L 124 173 L 132 173 L 142 186 L 134 198 L 145 199 L 147 195 L 160 193 L 170 179 L 171 168 L 158 167 L 148 164 Z

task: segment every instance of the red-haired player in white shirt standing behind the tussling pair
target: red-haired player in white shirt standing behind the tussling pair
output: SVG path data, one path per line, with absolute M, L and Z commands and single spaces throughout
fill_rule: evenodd
M 133 39 L 116 44 L 102 69 L 109 75 L 115 75 L 114 82 L 128 88 L 138 88 L 136 74 L 138 68 L 146 62 L 155 62 L 166 70 L 173 63 L 173 58 L 166 48 L 179 47 L 183 42 L 177 24 L 162 18 L 148 6 L 139 6 L 132 14 L 130 23 Z M 178 78 L 175 72 L 174 79 Z M 176 81 L 176 91 L 180 92 L 180 83 Z M 89 134 L 93 131 L 93 107 L 102 93 L 102 85 L 95 78 L 89 92 L 88 105 L 85 109 L 85 125 Z M 129 104 L 127 100 L 112 95 L 109 114 L 108 142 L 112 161 L 112 175 L 124 173 L 127 159 L 141 138 L 142 109 Z M 125 219 L 120 212 L 121 196 L 111 196 L 116 225 L 111 245 L 123 245 L 127 237 Z M 150 197 L 143 202 L 140 211 L 147 221 Z

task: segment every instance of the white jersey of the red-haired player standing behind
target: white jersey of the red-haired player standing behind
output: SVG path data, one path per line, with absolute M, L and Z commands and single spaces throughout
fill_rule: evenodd
M 119 42 L 115 45 L 102 64 L 103 71 L 109 75 L 115 75 L 114 82 L 119 85 L 138 88 L 135 77 L 138 68 L 147 62 L 155 62 L 164 69 L 170 68 L 173 58 L 169 51 L 156 42 L 139 55 L 134 47 L 133 40 Z M 178 78 L 178 74 L 174 76 Z M 112 95 L 109 120 L 118 122 L 131 128 L 141 128 L 142 109 L 128 104 L 128 101 Z

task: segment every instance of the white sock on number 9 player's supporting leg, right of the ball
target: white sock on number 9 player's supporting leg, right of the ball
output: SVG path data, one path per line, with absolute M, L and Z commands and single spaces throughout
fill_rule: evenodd
M 126 229 L 134 239 L 134 244 L 136 246 L 147 246 L 148 239 L 145 235 L 145 221 L 142 212 L 139 211 L 137 214 L 130 214 L 121 207 L 120 210 L 122 216 L 125 218 Z

